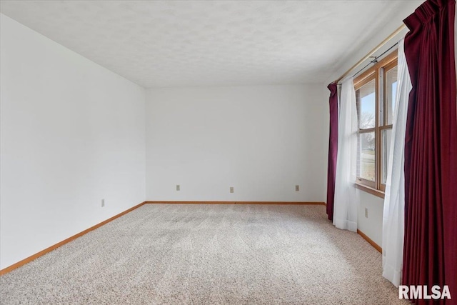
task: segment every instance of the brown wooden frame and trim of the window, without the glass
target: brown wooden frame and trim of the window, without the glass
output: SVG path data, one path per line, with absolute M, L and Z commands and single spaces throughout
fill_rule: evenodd
M 386 92 L 386 71 L 390 71 L 398 65 L 398 54 L 394 50 L 378 63 L 371 66 L 370 69 L 364 71 L 360 76 L 357 76 L 353 83 L 354 89 L 357 91 L 365 84 L 375 79 L 376 98 L 375 98 L 375 127 L 370 129 L 358 128 L 358 134 L 373 132 L 375 134 L 375 181 L 356 177 L 356 187 L 370 194 L 384 198 L 386 184 L 382 183 L 382 161 L 381 161 L 381 141 L 382 132 L 386 129 L 392 129 L 392 124 L 387 123 L 386 101 L 384 101 L 384 93 Z M 381 83 L 381 84 L 380 84 Z M 381 101 L 383 104 L 380 105 Z M 381 109 L 381 106 L 383 109 Z M 358 125 L 358 124 L 357 124 Z M 358 126 L 359 127 L 359 126 Z

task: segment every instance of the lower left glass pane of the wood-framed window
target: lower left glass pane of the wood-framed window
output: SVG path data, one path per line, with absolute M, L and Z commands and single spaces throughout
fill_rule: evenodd
M 357 176 L 369 181 L 375 177 L 374 132 L 358 134 Z

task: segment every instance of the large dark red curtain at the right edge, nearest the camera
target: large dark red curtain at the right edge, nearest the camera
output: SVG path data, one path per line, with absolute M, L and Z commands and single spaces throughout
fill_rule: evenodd
M 404 21 L 413 89 L 406 121 L 402 282 L 427 285 L 428 291 L 448 285 L 452 300 L 437 304 L 457 304 L 455 6 L 455 0 L 428 0 Z

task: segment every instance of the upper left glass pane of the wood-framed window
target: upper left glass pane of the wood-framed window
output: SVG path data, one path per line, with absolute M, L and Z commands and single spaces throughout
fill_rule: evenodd
M 356 91 L 358 128 L 373 128 L 375 124 L 376 81 L 361 86 Z

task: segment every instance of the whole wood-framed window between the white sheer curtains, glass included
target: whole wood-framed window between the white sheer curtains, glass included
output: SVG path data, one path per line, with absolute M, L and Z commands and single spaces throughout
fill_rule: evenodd
M 396 52 L 354 79 L 358 116 L 359 189 L 383 197 L 397 85 Z

